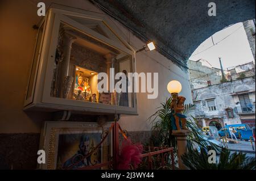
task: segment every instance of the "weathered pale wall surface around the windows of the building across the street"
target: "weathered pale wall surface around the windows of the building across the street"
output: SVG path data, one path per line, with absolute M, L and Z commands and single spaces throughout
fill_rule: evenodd
M 223 119 L 224 125 L 241 123 L 240 116 L 233 111 L 234 117 L 228 118 L 226 115 L 226 108 L 236 107 L 236 103 L 239 101 L 238 96 L 232 94 L 236 92 L 248 91 L 249 98 L 252 103 L 255 103 L 255 78 L 249 77 L 233 82 L 220 83 L 218 85 L 203 87 L 201 89 L 194 89 L 193 102 L 197 103 L 199 112 L 203 112 L 204 118 Z M 214 99 L 216 111 L 209 111 L 207 106 L 207 100 Z M 202 113 L 201 113 L 202 114 Z

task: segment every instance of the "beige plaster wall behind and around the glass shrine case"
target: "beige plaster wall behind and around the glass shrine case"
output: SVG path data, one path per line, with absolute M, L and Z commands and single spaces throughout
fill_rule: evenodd
M 51 114 L 45 112 L 24 112 L 23 101 L 26 93 L 32 56 L 36 42 L 36 30 L 32 28 L 38 24 L 40 17 L 36 12 L 40 1 L 1 1 L 0 5 L 0 133 L 40 133 L 45 120 L 51 120 Z M 82 10 L 103 14 L 88 1 L 44 1 L 48 7 L 51 3 L 58 3 Z M 123 37 L 134 49 L 140 49 L 145 44 L 112 19 Z M 152 115 L 170 94 L 167 83 L 177 79 L 183 86 L 180 95 L 187 97 L 186 103 L 191 103 L 191 89 L 188 73 L 162 56 L 156 50 L 139 52 L 136 55 L 137 72 L 158 73 L 159 94 L 156 99 L 147 99 L 146 93 L 138 93 L 138 116 L 122 116 L 121 127 L 127 131 L 148 131 L 150 123 L 147 118 Z

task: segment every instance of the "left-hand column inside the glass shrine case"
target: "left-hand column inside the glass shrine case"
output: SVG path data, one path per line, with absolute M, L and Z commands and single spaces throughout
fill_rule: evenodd
M 72 87 L 73 77 L 69 76 L 69 62 L 71 56 L 72 44 L 75 41 L 76 37 L 69 35 L 65 30 L 62 32 L 63 36 L 63 61 L 61 62 L 61 98 L 67 99 L 69 91 Z

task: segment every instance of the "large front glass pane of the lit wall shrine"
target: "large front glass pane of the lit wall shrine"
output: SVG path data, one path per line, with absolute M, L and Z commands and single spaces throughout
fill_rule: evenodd
M 65 23 L 60 24 L 53 73 L 53 97 L 133 107 L 128 92 L 133 80 L 127 78 L 131 56 Z

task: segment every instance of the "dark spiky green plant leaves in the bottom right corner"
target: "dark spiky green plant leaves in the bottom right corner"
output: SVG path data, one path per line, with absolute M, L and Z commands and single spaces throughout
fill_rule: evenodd
M 228 149 L 222 148 L 219 161 L 216 163 L 208 162 L 208 153 L 203 148 L 201 152 L 189 150 L 188 153 L 181 155 L 185 166 L 191 170 L 250 170 L 255 169 L 255 158 L 246 157 L 246 154 L 230 154 Z

